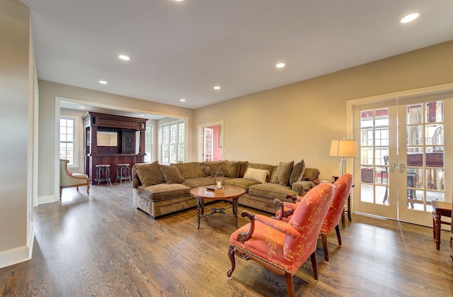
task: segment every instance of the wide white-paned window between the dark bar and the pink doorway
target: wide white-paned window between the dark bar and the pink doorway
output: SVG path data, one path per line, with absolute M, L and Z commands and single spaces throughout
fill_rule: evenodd
M 162 126 L 161 163 L 184 162 L 185 123 L 171 123 Z

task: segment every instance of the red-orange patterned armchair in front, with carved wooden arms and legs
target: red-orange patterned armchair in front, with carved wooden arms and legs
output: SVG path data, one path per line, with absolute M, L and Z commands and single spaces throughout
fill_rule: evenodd
M 311 257 L 314 279 L 318 280 L 316 242 L 334 194 L 332 184 L 319 184 L 299 201 L 288 221 L 242 211 L 250 223 L 236 230 L 229 239 L 228 256 L 231 278 L 236 262 L 234 255 L 251 259 L 278 275 L 285 275 L 288 296 L 294 296 L 292 276 Z

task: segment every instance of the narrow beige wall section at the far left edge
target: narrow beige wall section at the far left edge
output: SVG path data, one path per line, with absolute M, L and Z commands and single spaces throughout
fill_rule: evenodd
M 30 145 L 33 140 L 29 139 L 33 55 L 30 55 L 30 10 L 27 7 L 0 0 L 0 40 L 1 268 L 29 259 L 28 240 L 33 245 L 33 232 L 29 232 L 33 225 L 28 214 L 31 201 L 28 169 L 33 163 L 29 152 L 30 148 L 33 151 L 33 144 Z

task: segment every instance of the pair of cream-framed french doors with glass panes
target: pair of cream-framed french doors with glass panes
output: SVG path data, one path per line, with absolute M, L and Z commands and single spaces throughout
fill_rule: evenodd
M 356 212 L 432 225 L 431 201 L 452 201 L 452 108 L 440 95 L 355 106 Z

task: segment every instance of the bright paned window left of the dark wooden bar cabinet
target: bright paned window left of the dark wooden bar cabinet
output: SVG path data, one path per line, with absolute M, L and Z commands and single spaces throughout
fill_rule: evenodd
M 76 118 L 60 117 L 59 119 L 59 158 L 68 159 L 70 167 L 77 167 Z

